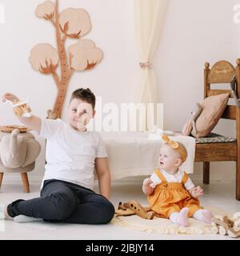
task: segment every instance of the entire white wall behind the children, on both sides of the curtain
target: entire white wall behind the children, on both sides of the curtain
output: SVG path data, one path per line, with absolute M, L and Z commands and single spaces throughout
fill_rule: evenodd
M 44 118 L 56 97 L 53 79 L 32 70 L 30 50 L 39 42 L 55 45 L 50 23 L 37 18 L 37 0 L 0 0 L 5 6 L 6 23 L 0 24 L 0 94 L 11 91 L 21 98 L 30 97 L 34 114 Z M 93 39 L 104 52 L 100 65 L 90 72 L 75 73 L 70 92 L 89 86 L 104 102 L 134 102 L 138 78 L 138 59 L 134 38 L 133 0 L 60 0 L 60 10 L 84 8 L 93 25 L 85 38 Z M 167 130 L 181 130 L 195 102 L 202 101 L 203 68 L 206 61 L 226 59 L 235 65 L 240 58 L 240 24 L 233 22 L 234 4 L 239 0 L 170 0 L 162 40 L 154 59 L 158 76 L 158 100 L 164 103 Z M 69 45 L 70 42 L 67 42 Z M 63 111 L 66 119 L 66 105 Z M 0 124 L 18 123 L 10 106 L 0 105 Z M 215 129 L 234 135 L 230 126 L 219 122 Z M 42 143 L 42 140 L 40 139 Z M 44 155 L 40 154 L 30 178 L 42 176 Z M 195 175 L 201 173 L 196 165 Z M 233 163 L 214 163 L 213 178 L 234 179 Z M 222 170 L 219 172 L 219 170 Z M 226 170 L 228 174 L 226 175 Z

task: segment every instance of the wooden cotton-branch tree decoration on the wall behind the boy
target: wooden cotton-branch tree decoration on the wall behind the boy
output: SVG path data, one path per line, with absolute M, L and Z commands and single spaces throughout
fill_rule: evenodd
M 91 70 L 102 60 L 102 50 L 89 39 L 82 39 L 91 30 L 90 15 L 86 10 L 68 8 L 58 13 L 58 0 L 46 1 L 37 6 L 35 14 L 54 25 L 57 49 L 48 43 L 40 43 L 31 50 L 30 63 L 41 74 L 50 74 L 58 88 L 54 110 L 48 110 L 47 118 L 61 118 L 66 90 L 74 71 Z M 67 38 L 78 39 L 66 51 Z M 60 65 L 61 74 L 58 74 Z

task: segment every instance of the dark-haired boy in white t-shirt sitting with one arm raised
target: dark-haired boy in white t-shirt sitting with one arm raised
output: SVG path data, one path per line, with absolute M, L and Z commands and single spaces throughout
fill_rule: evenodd
M 2 101 L 19 99 L 4 94 Z M 46 172 L 41 197 L 19 199 L 0 206 L 4 218 L 16 222 L 43 219 L 46 222 L 104 224 L 114 216 L 110 198 L 110 171 L 100 134 L 86 130 L 94 117 L 95 96 L 90 89 L 75 90 L 70 98 L 68 124 L 61 119 L 18 117 L 39 136 L 46 138 Z M 93 191 L 94 166 L 100 194 Z M 2 209 L 1 209 L 2 208 Z

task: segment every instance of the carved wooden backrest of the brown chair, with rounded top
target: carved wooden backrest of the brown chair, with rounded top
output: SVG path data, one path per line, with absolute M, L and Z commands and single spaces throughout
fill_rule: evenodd
M 230 83 L 234 75 L 237 79 L 237 94 L 240 97 L 240 59 L 237 59 L 236 68 L 226 61 L 216 62 L 214 66 L 210 69 L 209 62 L 205 63 L 204 70 L 204 98 L 211 95 L 225 94 L 230 93 L 230 98 L 233 98 L 234 95 L 231 93 L 231 90 L 212 90 L 210 88 L 211 84 L 217 83 Z M 236 120 L 240 125 L 239 117 L 239 108 L 234 105 L 226 106 L 226 110 L 222 114 L 222 118 Z M 240 127 L 240 126 L 239 126 Z

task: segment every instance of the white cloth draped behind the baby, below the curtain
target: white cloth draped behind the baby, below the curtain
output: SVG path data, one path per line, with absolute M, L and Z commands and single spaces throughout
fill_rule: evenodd
M 161 140 L 150 140 L 143 132 L 102 132 L 112 178 L 150 175 L 158 168 Z M 181 169 L 193 173 L 195 144 L 188 136 L 170 137 L 186 146 L 188 158 Z

